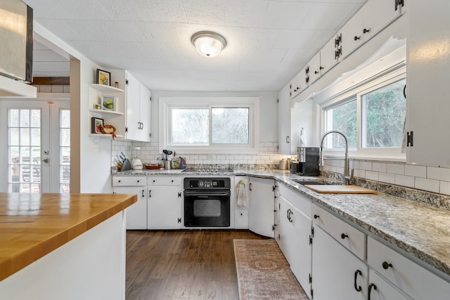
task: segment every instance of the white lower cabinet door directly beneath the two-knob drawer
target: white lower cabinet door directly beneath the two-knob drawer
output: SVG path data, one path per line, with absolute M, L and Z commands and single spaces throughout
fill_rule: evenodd
M 312 247 L 314 300 L 366 299 L 364 295 L 367 294 L 367 266 L 363 261 L 342 247 L 319 226 L 314 226 Z M 361 291 L 358 292 L 355 287 L 361 287 Z

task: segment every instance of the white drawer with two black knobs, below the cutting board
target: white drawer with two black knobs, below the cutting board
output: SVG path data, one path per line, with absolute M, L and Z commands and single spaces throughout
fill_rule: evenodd
M 311 219 L 314 224 L 320 226 L 359 259 L 366 260 L 366 235 L 364 233 L 316 205 L 312 206 Z

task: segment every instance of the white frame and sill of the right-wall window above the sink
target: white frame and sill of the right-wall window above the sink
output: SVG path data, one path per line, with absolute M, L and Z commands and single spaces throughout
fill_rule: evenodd
M 337 96 L 333 96 L 328 100 L 323 101 L 320 104 L 321 109 L 321 136 L 326 132 L 326 110 L 347 103 L 356 99 L 356 148 L 349 148 L 349 156 L 359 159 L 384 159 L 384 160 L 396 160 L 406 161 L 406 154 L 401 152 L 401 147 L 392 148 L 363 148 L 362 147 L 362 126 L 363 117 L 366 112 L 363 112 L 362 96 L 376 89 L 380 89 L 383 86 L 387 86 L 401 79 L 406 79 L 406 67 L 401 67 L 399 70 L 394 70 L 385 76 L 375 78 L 364 82 L 364 84 L 356 85 L 354 89 L 348 89 L 343 93 L 338 93 Z M 345 154 L 345 149 L 326 149 L 323 148 L 323 155 L 328 157 L 340 157 Z

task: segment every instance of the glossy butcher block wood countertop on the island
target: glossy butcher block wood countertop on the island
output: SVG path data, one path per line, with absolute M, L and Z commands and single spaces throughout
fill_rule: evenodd
M 0 280 L 136 201 L 125 194 L 0 193 Z

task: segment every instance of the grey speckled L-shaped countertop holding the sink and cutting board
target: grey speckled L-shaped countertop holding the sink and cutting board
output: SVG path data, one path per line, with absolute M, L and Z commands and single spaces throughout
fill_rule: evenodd
M 165 171 L 124 171 L 113 175 L 211 175 L 179 169 Z M 397 246 L 407 255 L 428 263 L 450 276 L 450 210 L 420 203 L 402 197 L 378 194 L 321 194 L 305 188 L 293 179 L 308 180 L 289 171 L 235 170 L 212 173 L 214 176 L 243 175 L 274 178 L 313 203 L 326 207 L 335 214 L 356 224 L 368 235 L 379 237 Z M 447 280 L 449 280 L 447 278 Z

